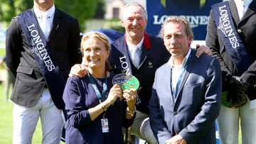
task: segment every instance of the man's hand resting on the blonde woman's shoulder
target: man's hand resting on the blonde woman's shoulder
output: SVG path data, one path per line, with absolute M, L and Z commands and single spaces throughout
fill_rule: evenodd
M 87 66 L 76 64 L 73 67 L 71 67 L 70 74 L 68 74 L 68 76 L 73 77 L 75 75 L 80 78 L 85 77 L 85 75 L 87 74 L 86 69 Z

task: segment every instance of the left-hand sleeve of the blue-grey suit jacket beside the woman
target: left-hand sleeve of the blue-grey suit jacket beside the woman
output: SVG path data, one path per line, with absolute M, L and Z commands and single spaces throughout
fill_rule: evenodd
M 155 81 L 152 88 L 152 95 L 149 101 L 149 120 L 150 126 L 156 137 L 156 140 L 159 143 L 165 143 L 166 140 L 169 140 L 172 135 L 169 133 L 169 130 L 164 123 L 164 118 L 161 116 L 160 105 L 159 105 L 159 96 L 156 92 L 156 79 L 157 79 L 157 71 L 155 75 Z

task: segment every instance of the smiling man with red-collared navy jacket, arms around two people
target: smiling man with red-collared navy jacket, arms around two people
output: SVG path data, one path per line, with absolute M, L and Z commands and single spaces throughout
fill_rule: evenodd
M 149 126 L 150 89 L 154 83 L 156 69 L 164 65 L 171 55 L 166 51 L 161 38 L 144 32 L 148 20 L 144 6 L 137 2 L 127 4 L 122 9 L 120 20 L 126 33 L 112 43 L 108 60 L 115 74 L 132 74 L 139 79 L 142 89 L 137 96 L 137 115 L 131 126 L 131 132 L 132 135 L 154 144 L 157 142 Z M 139 58 L 137 62 L 134 62 L 135 58 L 132 54 L 134 48 L 138 48 L 135 54 Z M 199 57 L 203 52 L 211 55 L 210 49 L 204 46 L 201 46 L 195 55 Z M 85 67 L 76 65 L 70 75 L 83 77 L 85 72 L 82 70 L 85 70 Z

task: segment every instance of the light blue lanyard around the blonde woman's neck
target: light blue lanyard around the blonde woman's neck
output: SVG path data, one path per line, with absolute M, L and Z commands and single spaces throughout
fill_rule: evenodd
M 87 74 L 90 80 L 90 83 L 92 84 L 93 89 L 95 90 L 95 93 L 97 94 L 97 98 L 99 101 L 105 101 L 106 99 L 106 94 L 107 94 L 107 77 L 103 83 L 103 90 L 102 90 L 102 95 L 100 94 L 99 89 L 97 88 L 97 85 L 95 84 L 95 80 L 93 79 L 92 75 L 89 72 L 89 69 L 87 68 Z M 107 76 L 107 73 L 106 73 Z

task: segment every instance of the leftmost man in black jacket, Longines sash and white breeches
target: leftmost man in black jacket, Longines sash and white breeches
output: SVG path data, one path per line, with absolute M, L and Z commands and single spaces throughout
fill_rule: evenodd
M 34 0 L 14 17 L 6 34 L 6 64 L 16 77 L 13 143 L 31 143 L 41 118 L 42 143 L 60 143 L 70 67 L 82 61 L 78 20 L 54 5 Z

